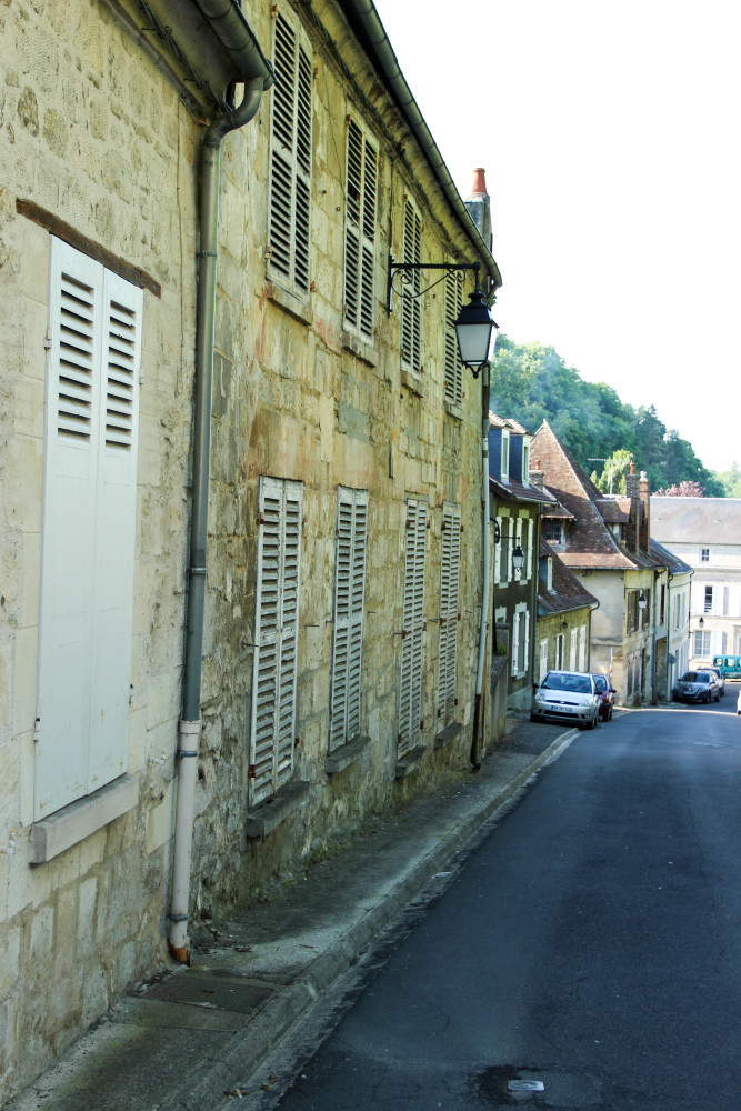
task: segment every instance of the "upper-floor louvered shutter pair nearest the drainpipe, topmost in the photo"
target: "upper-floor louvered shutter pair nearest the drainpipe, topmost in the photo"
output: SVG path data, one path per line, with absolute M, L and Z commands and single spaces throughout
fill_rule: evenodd
M 309 292 L 311 57 L 298 28 L 276 17 L 270 150 L 269 273 Z

